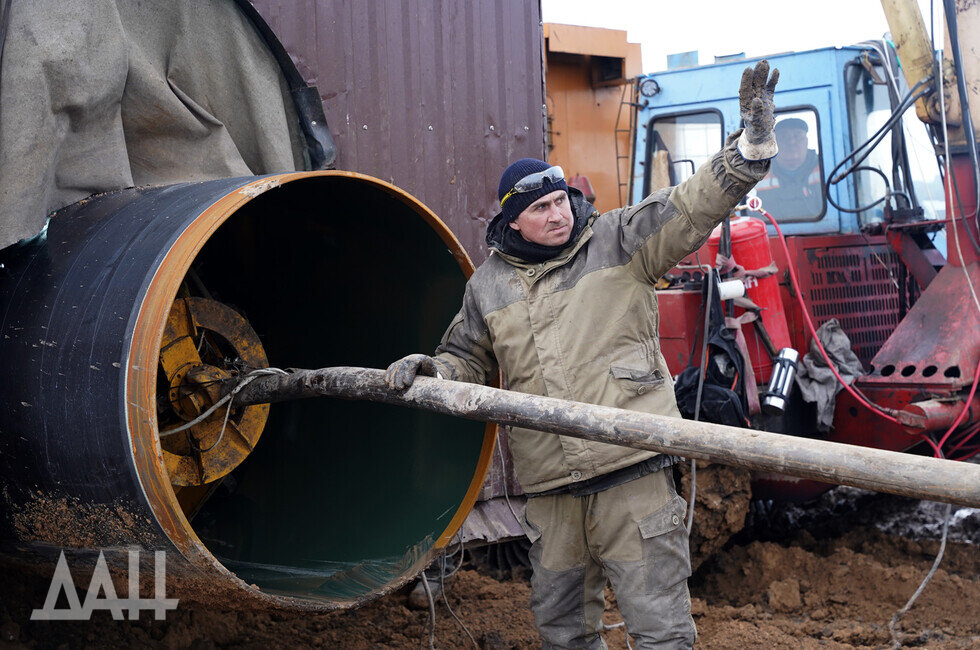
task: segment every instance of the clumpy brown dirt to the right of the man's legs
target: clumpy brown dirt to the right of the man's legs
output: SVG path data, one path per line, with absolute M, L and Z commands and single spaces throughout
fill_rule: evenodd
M 802 639 L 844 646 L 890 643 L 888 621 L 928 572 L 938 544 L 855 531 L 832 543 L 803 535 L 794 545 L 753 542 L 715 557 L 692 591 L 704 599 L 704 647 Z M 980 642 L 980 563 L 972 545 L 953 544 L 900 623 L 910 645 L 974 647 Z M 729 641 L 740 638 L 737 644 Z M 758 638 L 754 638 L 754 637 Z

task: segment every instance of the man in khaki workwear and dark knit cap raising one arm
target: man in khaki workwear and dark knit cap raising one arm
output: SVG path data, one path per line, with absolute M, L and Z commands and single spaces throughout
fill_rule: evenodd
M 510 165 L 491 255 L 435 357 L 396 361 L 393 388 L 417 374 L 484 384 L 499 368 L 515 391 L 680 417 L 660 353 L 654 283 L 698 248 L 769 170 L 776 155 L 765 61 L 739 89 L 744 130 L 680 185 L 599 214 L 560 168 Z M 767 80 L 768 77 L 768 80 Z M 527 495 L 531 608 L 545 648 L 603 648 L 603 588 L 612 583 L 640 648 L 695 640 L 686 504 L 654 452 L 514 428 Z

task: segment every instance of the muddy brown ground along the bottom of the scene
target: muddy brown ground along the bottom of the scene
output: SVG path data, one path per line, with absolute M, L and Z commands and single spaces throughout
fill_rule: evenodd
M 888 621 L 929 570 L 944 506 L 840 488 L 807 507 L 754 502 L 749 526 L 704 562 L 690 581 L 702 648 L 881 648 Z M 900 623 L 910 647 L 980 647 L 980 513 L 956 510 L 946 556 Z M 235 612 L 180 607 L 166 621 L 31 622 L 47 584 L 5 571 L 0 647 L 213 648 L 318 646 L 418 648 L 428 613 L 407 591 L 357 611 Z M 481 648 L 532 648 L 530 588 L 518 570 L 496 579 L 466 564 L 446 596 Z M 81 594 L 84 597 L 84 594 Z M 607 590 L 608 624 L 622 619 Z M 625 648 L 622 628 L 606 632 Z M 473 647 L 441 600 L 435 646 Z

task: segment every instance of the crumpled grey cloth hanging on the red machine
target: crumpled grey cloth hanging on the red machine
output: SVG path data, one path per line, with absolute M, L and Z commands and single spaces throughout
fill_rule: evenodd
M 827 356 L 834 362 L 837 372 L 848 385 L 865 374 L 861 360 L 851 350 L 851 340 L 841 329 L 836 318 L 817 328 L 817 338 L 827 351 Z M 796 374 L 796 385 L 803 393 L 807 402 L 817 405 L 817 429 L 830 431 L 834 423 L 834 406 L 837 403 L 837 393 L 844 390 L 833 371 L 827 366 L 826 360 L 820 354 L 820 349 L 814 341 L 810 341 L 810 351 L 803 355 Z

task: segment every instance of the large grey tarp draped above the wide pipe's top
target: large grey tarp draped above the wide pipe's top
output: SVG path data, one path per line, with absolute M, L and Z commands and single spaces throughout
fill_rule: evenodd
M 306 168 L 279 64 L 233 0 L 12 3 L 0 248 L 91 194 Z

